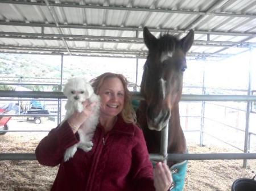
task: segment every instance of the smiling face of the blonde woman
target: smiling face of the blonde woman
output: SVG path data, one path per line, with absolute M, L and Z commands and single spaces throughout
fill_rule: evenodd
M 119 78 L 106 78 L 98 90 L 101 97 L 101 116 L 115 117 L 123 109 L 125 89 Z

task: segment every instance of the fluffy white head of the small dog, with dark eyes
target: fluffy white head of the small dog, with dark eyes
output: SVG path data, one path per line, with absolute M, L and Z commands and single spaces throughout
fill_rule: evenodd
M 93 94 L 93 88 L 84 78 L 71 78 L 65 84 L 63 94 L 71 101 L 85 101 Z

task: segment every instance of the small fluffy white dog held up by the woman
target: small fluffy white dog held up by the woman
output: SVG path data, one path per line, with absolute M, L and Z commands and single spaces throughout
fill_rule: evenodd
M 96 103 L 92 115 L 88 117 L 78 130 L 79 143 L 67 148 L 65 151 L 64 161 L 66 162 L 75 155 L 77 148 L 81 148 L 85 152 L 92 149 L 92 138 L 100 116 L 100 96 L 94 94 L 92 86 L 90 86 L 85 78 L 80 77 L 69 79 L 67 84 L 65 84 L 63 94 L 68 97 L 67 104 L 65 105 L 67 112 L 63 122 L 75 111 L 82 112 L 84 110 L 82 102 L 85 100 L 89 100 L 90 103 Z

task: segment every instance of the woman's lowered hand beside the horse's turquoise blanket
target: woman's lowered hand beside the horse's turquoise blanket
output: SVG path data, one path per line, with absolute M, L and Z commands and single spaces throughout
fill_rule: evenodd
M 167 164 L 159 162 L 154 168 L 154 186 L 156 191 L 167 191 L 172 185 L 172 175 Z

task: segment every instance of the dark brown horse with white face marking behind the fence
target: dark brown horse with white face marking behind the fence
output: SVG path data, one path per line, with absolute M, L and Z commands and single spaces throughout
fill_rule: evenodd
M 148 56 L 141 82 L 142 100 L 137 109 L 137 120 L 146 139 L 150 154 L 160 153 L 163 128 L 168 128 L 168 154 L 187 152 L 183 130 L 180 126 L 179 101 L 183 86 L 183 73 L 187 68 L 185 55 L 191 48 L 194 32 L 191 30 L 179 40 L 168 33 L 156 39 L 143 30 Z M 180 161 L 168 161 L 172 165 Z

